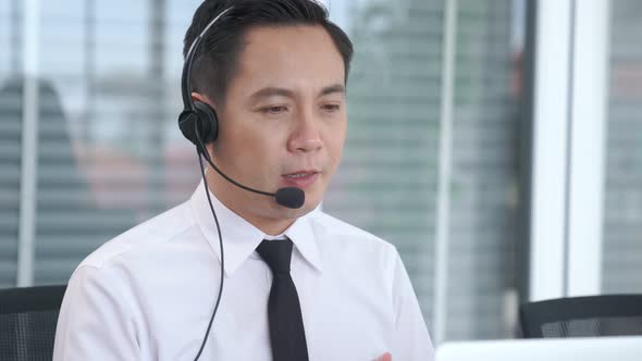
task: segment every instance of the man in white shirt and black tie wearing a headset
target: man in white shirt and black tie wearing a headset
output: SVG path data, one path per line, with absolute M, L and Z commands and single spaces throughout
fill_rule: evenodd
M 297 187 L 305 202 L 283 207 L 210 169 L 224 257 L 201 183 L 81 263 L 54 360 L 432 360 L 396 249 L 318 209 L 346 137 L 349 39 L 311 0 L 206 1 L 185 53 L 232 4 L 194 65 L 193 99 L 219 119 L 207 152 L 232 179 Z

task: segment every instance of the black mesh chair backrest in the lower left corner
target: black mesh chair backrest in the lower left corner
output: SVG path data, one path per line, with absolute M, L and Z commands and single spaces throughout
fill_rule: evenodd
M 0 360 L 51 360 L 66 286 L 0 289 Z

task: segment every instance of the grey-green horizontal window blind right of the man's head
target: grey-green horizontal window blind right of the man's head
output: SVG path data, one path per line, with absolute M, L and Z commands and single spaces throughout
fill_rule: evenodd
M 513 1 L 458 1 L 447 339 L 511 335 L 519 204 Z M 444 2 L 362 1 L 349 130 L 324 209 L 399 250 L 432 328 Z M 521 28 L 523 30 L 523 28 Z

